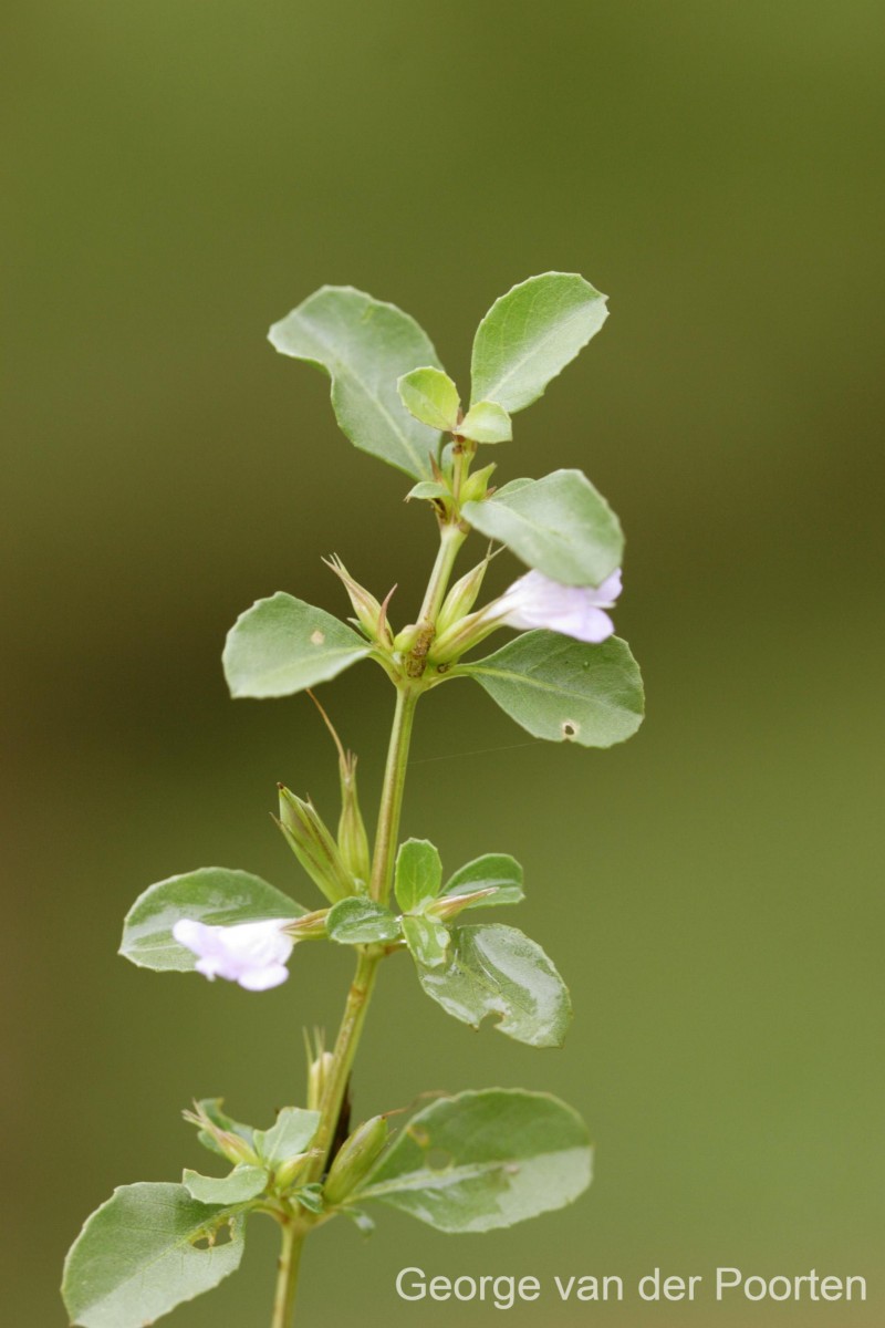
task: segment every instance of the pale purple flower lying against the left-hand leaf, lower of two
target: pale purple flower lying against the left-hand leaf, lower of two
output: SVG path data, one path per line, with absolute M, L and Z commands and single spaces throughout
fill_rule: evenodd
M 179 918 L 172 936 L 198 956 L 196 972 L 210 981 L 226 977 L 249 992 L 279 987 L 289 976 L 285 967 L 295 938 L 285 932 L 292 918 L 241 922 L 232 927 L 210 927 L 191 918 Z

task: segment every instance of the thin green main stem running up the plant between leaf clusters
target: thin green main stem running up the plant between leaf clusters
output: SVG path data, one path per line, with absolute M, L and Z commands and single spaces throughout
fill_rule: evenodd
M 427 592 L 421 608 L 421 620 L 427 624 L 434 624 L 437 620 L 446 596 L 458 550 L 463 542 L 464 533 L 458 526 L 442 527 L 437 562 L 430 574 Z M 421 687 L 414 681 L 402 681 L 397 687 L 397 708 L 390 730 L 387 765 L 381 790 L 378 830 L 372 862 L 370 892 L 372 898 L 379 903 L 386 903 L 390 895 L 393 866 L 399 839 L 399 815 L 406 785 L 409 744 L 411 741 L 411 726 L 419 696 Z M 357 971 L 350 983 L 341 1028 L 338 1029 L 332 1053 L 332 1065 L 322 1090 L 320 1127 L 313 1149 L 314 1157 L 305 1175 L 305 1183 L 322 1179 L 325 1173 L 329 1149 L 332 1147 L 336 1125 L 341 1114 L 341 1105 L 348 1090 L 348 1080 L 350 1078 L 350 1069 L 357 1054 L 357 1046 L 360 1045 L 360 1036 L 369 1009 L 369 1001 L 372 1000 L 372 991 L 381 957 L 381 952 L 377 952 L 373 947 L 365 947 L 358 951 Z M 283 1250 L 280 1252 L 280 1271 L 276 1283 L 271 1328 L 289 1328 L 292 1323 L 299 1284 L 299 1264 L 305 1235 L 306 1228 L 296 1216 L 289 1218 L 283 1226 Z

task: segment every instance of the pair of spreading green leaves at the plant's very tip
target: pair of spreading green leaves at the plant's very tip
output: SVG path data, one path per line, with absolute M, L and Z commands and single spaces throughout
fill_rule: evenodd
M 541 396 L 605 317 L 605 296 L 569 272 L 532 276 L 496 300 L 474 340 L 467 418 L 486 434 L 476 441 L 508 437 L 508 416 Z M 459 400 L 414 319 L 353 287 L 324 286 L 275 323 L 269 339 L 329 374 L 338 425 L 354 446 L 415 479 L 433 478 L 430 457 L 441 430 L 456 425 Z

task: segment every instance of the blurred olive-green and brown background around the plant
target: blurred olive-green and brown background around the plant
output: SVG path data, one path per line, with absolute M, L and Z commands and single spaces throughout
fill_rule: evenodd
M 405 830 L 451 866 L 524 862 L 521 922 L 576 1021 L 559 1053 L 472 1035 L 391 964 L 356 1097 L 551 1089 L 590 1122 L 597 1181 L 484 1238 L 333 1224 L 304 1323 L 496 1321 L 399 1301 L 406 1264 L 815 1267 L 870 1284 L 815 1320 L 881 1323 L 881 5 L 29 0 L 4 27 L 9 1321 L 61 1328 L 62 1254 L 114 1185 L 200 1165 L 191 1096 L 269 1122 L 301 1092 L 301 1023 L 337 1021 L 344 954 L 305 947 L 263 996 L 114 954 L 135 894 L 191 867 L 309 902 L 268 811 L 285 780 L 333 815 L 333 753 L 304 697 L 228 701 L 223 635 L 277 588 L 344 612 L 332 551 L 398 582 L 402 623 L 433 558 L 427 513 L 267 325 L 353 283 L 464 381 L 488 304 L 561 268 L 612 317 L 496 459 L 581 466 L 621 514 L 649 718 L 610 753 L 549 748 L 442 689 Z M 385 679 L 322 697 L 374 797 Z M 175 1323 L 268 1321 L 264 1227 Z M 548 1295 L 510 1319 L 809 1313 Z

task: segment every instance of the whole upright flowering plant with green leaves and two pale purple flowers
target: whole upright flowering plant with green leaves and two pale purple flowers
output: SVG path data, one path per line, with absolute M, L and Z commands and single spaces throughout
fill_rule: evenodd
M 283 1240 L 272 1328 L 287 1328 L 305 1239 L 337 1216 L 368 1231 L 368 1210 L 381 1203 L 441 1231 L 490 1231 L 571 1203 L 588 1186 L 586 1129 L 549 1094 L 495 1088 L 442 1097 L 391 1138 L 383 1114 L 350 1127 L 348 1084 L 390 957 L 410 956 L 422 989 L 462 1023 L 479 1027 L 491 1015 L 529 1046 L 557 1046 L 568 1028 L 568 989 L 541 947 L 511 926 L 462 922 L 519 903 L 519 863 L 487 853 L 446 876 L 433 843 L 399 842 L 399 815 L 415 708 L 455 677 L 472 679 L 539 738 L 605 748 L 642 720 L 640 672 L 606 612 L 621 591 L 614 513 L 579 470 L 495 489 L 494 463 L 474 469 L 479 448 L 511 438 L 511 417 L 541 396 L 605 316 L 605 297 L 576 275 L 548 272 L 513 287 L 476 331 L 467 409 L 422 329 L 360 291 L 324 287 L 271 329 L 277 351 L 328 373 L 344 433 L 413 479 L 409 497 L 429 505 L 439 530 L 413 623 L 394 627 L 390 596 L 378 600 L 332 559 L 353 625 L 277 591 L 238 619 L 224 647 L 234 697 L 291 696 L 362 660 L 385 671 L 395 709 L 374 843 L 356 758 L 332 730 L 336 831 L 283 786 L 279 802 L 279 826 L 324 906 L 308 911 L 245 871 L 200 869 L 135 900 L 121 954 L 261 992 L 287 980 L 299 943 L 316 940 L 349 947 L 356 972 L 334 1045 L 316 1038 L 310 1048 L 304 1105 L 284 1108 L 261 1130 L 230 1117 L 220 1100 L 196 1102 L 186 1118 L 228 1173 L 186 1170 L 180 1183 L 122 1186 L 88 1219 L 65 1266 L 72 1323 L 153 1323 L 234 1272 L 247 1220 L 265 1214 Z M 491 551 L 450 587 L 474 530 L 529 568 L 480 608 Z M 466 657 L 504 627 L 527 631 L 492 655 Z

